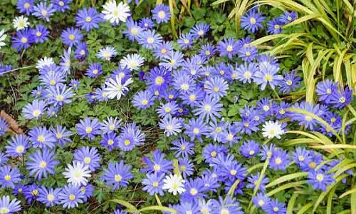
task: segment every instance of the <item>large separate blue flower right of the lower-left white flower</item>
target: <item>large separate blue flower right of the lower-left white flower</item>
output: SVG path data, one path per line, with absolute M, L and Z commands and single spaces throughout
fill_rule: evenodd
M 121 187 L 127 187 L 129 180 L 133 178 L 131 168 L 131 165 L 125 164 L 122 160 L 120 163 L 109 163 L 101 179 L 106 185 L 112 186 L 112 190 L 119 190 Z

